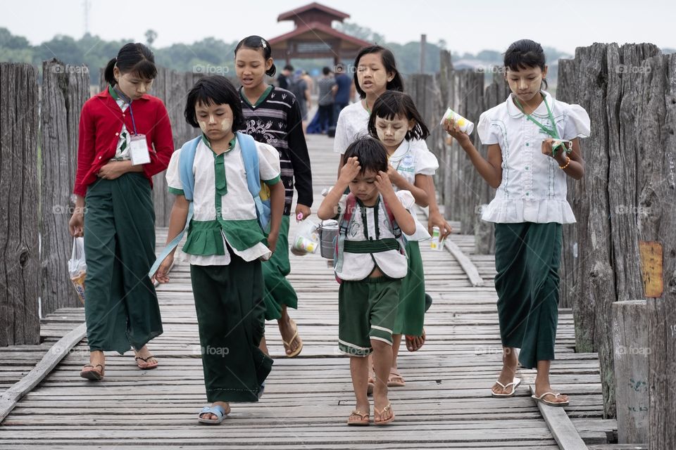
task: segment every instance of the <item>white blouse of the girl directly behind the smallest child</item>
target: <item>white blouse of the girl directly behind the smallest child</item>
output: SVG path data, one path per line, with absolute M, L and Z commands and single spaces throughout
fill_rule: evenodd
M 399 147 L 394 150 L 394 153 L 389 157 L 389 164 L 394 167 L 396 172 L 399 172 L 406 181 L 410 184 L 415 184 L 415 175 L 429 175 L 433 176 L 437 169 L 439 168 L 439 161 L 437 157 L 430 152 L 430 150 L 420 148 L 420 146 L 414 146 L 411 143 L 412 141 L 406 141 L 404 139 L 399 144 Z M 425 141 L 418 141 L 425 143 Z M 392 185 L 394 191 L 399 191 L 399 188 Z M 408 240 L 426 240 L 430 239 L 430 233 L 427 231 L 427 228 L 423 226 L 416 217 L 417 214 L 413 214 L 413 219 L 415 219 L 415 233 L 413 235 L 406 235 Z

